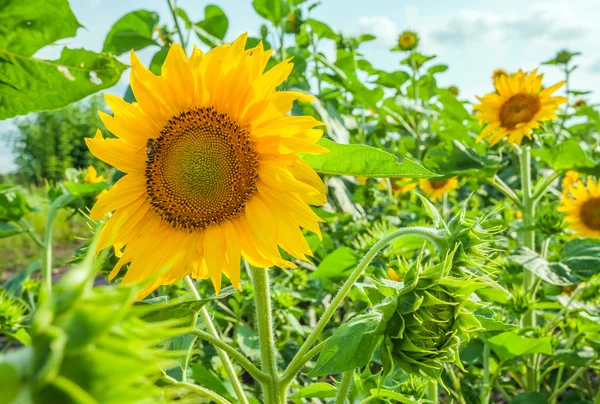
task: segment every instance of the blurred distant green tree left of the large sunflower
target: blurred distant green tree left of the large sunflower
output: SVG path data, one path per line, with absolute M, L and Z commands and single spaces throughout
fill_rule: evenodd
M 98 110 L 106 110 L 101 95 L 56 111 L 44 111 L 19 119 L 10 142 L 16 155 L 17 176 L 30 183 L 60 181 L 69 167 L 104 166 L 85 145 L 102 128 Z

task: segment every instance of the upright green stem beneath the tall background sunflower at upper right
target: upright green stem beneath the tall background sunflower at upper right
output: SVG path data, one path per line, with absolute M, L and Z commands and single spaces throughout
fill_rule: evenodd
M 525 231 L 522 232 L 521 243 L 524 247 L 535 251 L 535 229 L 534 218 L 535 218 L 535 199 L 533 198 L 532 184 L 531 184 L 531 148 L 529 146 L 523 147 L 519 156 L 521 163 L 521 192 L 523 205 L 523 226 Z M 533 272 L 523 269 L 523 290 L 529 295 L 529 301 L 535 300 L 535 280 L 536 277 Z M 536 314 L 534 310 L 529 310 L 522 319 L 523 328 L 535 327 L 536 326 Z M 527 359 L 526 366 L 526 386 L 529 391 L 534 391 L 537 387 L 537 366 L 535 365 L 535 358 L 533 356 Z

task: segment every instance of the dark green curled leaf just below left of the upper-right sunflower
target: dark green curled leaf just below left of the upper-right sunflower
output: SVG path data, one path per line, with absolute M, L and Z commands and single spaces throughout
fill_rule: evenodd
M 423 158 L 423 164 L 440 175 L 475 178 L 493 177 L 505 165 L 499 156 L 482 156 L 475 149 L 457 141 L 430 148 Z

